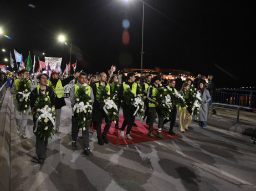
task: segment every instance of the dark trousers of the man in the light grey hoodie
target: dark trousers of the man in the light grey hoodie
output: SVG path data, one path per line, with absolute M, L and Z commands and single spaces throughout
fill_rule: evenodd
M 72 140 L 76 141 L 78 139 L 78 132 L 79 132 L 79 126 L 78 123 L 76 122 L 75 116 L 72 116 Z M 84 148 L 89 148 L 89 126 L 85 127 L 85 131 L 82 130 L 82 137 L 83 137 L 83 142 L 84 142 Z

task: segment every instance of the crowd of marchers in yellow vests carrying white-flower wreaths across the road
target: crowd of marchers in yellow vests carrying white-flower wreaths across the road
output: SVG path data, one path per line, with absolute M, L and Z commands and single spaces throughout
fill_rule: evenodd
M 120 130 L 120 137 L 132 140 L 130 132 L 135 124 L 135 113 L 131 109 L 129 103 L 127 103 L 125 92 L 130 89 L 130 92 L 134 95 L 141 95 L 141 100 L 144 102 L 143 109 L 145 109 L 144 116 L 141 118 L 141 123 L 146 123 L 149 125 L 149 136 L 150 137 L 160 137 L 163 139 L 161 134 L 163 125 L 170 121 L 169 134 L 175 135 L 173 132 L 173 126 L 175 124 L 177 110 L 180 110 L 179 114 L 179 129 L 182 133 L 185 131 L 190 131 L 188 125 L 192 120 L 191 113 L 186 109 L 186 107 L 178 107 L 177 103 L 173 102 L 172 107 L 169 110 L 169 117 L 165 118 L 159 104 L 156 99 L 157 89 L 165 84 L 165 89 L 175 93 L 179 93 L 179 96 L 185 96 L 188 92 L 190 86 L 196 87 L 197 91 L 201 96 L 200 110 L 197 114 L 198 126 L 206 128 L 208 104 L 212 104 L 212 95 L 214 91 L 214 83 L 212 82 L 213 76 L 208 76 L 208 83 L 206 83 L 206 76 L 198 75 L 197 78 L 192 81 L 192 79 L 187 78 L 185 82 L 182 81 L 181 76 L 176 79 L 170 79 L 167 82 L 163 81 L 161 76 L 153 76 L 148 74 L 144 78 L 136 76 L 135 73 L 128 72 L 126 80 L 122 80 L 123 76 L 121 73 L 117 75 L 111 75 L 107 79 L 106 73 L 96 73 L 95 75 L 87 75 L 85 72 L 76 72 L 74 76 L 62 77 L 60 79 L 59 72 L 52 72 L 49 76 L 46 73 L 40 73 L 36 76 L 39 85 L 30 90 L 29 72 L 23 69 L 18 72 L 18 76 L 14 78 L 11 87 L 11 93 L 14 97 L 14 111 L 16 116 L 17 124 L 17 134 L 21 134 L 24 139 L 27 139 L 25 129 L 27 126 L 27 120 L 29 115 L 29 105 L 31 112 L 33 114 L 33 131 L 36 137 L 36 152 L 38 155 L 38 162 L 40 164 L 44 163 L 45 151 L 48 144 L 48 138 L 52 133 L 50 130 L 50 125 L 54 127 L 53 132 L 60 133 L 60 115 L 61 109 L 65 104 L 64 99 L 64 86 L 70 81 L 75 79 L 75 84 L 70 89 L 70 101 L 72 108 L 71 116 L 71 136 L 72 136 L 72 148 L 76 150 L 76 140 L 78 139 L 79 129 L 82 125 L 82 137 L 84 142 L 84 153 L 88 156 L 93 156 L 93 153 L 89 147 L 89 126 L 93 126 L 97 132 L 98 144 L 104 145 L 108 144 L 107 132 L 110 129 L 112 121 L 106 112 L 106 109 L 101 107 L 100 92 L 101 87 L 106 88 L 106 94 L 110 95 L 114 91 L 113 99 L 118 100 L 116 104 L 118 106 L 116 113 L 118 115 L 120 108 L 122 109 L 124 120 L 122 124 L 118 123 L 118 118 L 115 121 L 115 128 Z M 142 79 L 142 81 L 141 81 Z M 116 85 L 118 84 L 118 85 Z M 25 87 L 25 88 L 24 88 Z M 116 90 L 118 87 L 118 91 Z M 85 92 L 83 95 L 83 91 Z M 82 93 L 81 93 L 82 92 Z M 78 94 L 80 96 L 78 97 Z M 82 103 L 86 99 L 85 103 Z M 41 100 L 41 101 L 40 101 Z M 40 103 L 45 102 L 45 106 L 40 107 Z M 80 102 L 78 104 L 78 102 Z M 104 100 L 105 102 L 105 100 Z M 27 104 L 28 103 L 28 104 Z M 186 104 L 185 104 L 186 105 Z M 89 116 L 89 123 L 87 118 L 79 118 L 78 107 L 83 108 L 86 116 Z M 137 106 L 135 106 L 137 107 Z M 80 111 L 81 112 L 81 111 Z M 213 109 L 213 114 L 216 114 L 216 110 Z M 158 118 L 157 134 L 153 133 L 153 123 L 155 119 Z M 104 123 L 102 123 L 104 119 Z M 42 121 L 43 120 L 43 121 Z M 50 124 L 40 128 L 40 124 Z M 104 125 L 103 131 L 101 130 L 101 125 Z M 120 125 L 120 127 L 119 127 Z M 47 135 L 47 136 L 46 136 Z

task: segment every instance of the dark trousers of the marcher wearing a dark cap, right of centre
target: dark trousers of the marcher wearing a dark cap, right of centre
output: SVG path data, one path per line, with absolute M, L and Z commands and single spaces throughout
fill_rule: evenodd
M 159 107 L 150 107 L 150 112 L 149 112 L 149 131 L 153 132 L 153 123 L 155 122 L 156 119 L 156 113 L 158 116 L 158 126 L 157 126 L 157 132 L 162 131 L 162 126 L 163 126 L 163 115 L 162 112 L 160 111 Z

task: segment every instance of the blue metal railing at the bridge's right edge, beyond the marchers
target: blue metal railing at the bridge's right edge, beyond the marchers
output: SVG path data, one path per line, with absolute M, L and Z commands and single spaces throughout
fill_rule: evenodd
M 213 102 L 256 109 L 256 91 L 217 88 L 213 96 Z

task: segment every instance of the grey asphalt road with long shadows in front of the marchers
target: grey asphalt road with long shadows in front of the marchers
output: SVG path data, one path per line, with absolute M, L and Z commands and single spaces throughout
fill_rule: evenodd
M 185 134 L 178 132 L 176 124 L 180 139 L 100 146 L 96 133 L 90 131 L 94 156 L 88 157 L 83 153 L 81 138 L 78 150 L 71 150 L 69 99 L 66 103 L 62 133 L 49 140 L 43 166 L 37 163 L 32 118 L 26 130 L 28 139 L 22 139 L 16 134 L 12 108 L 11 190 L 256 189 L 255 145 L 248 136 L 211 125 L 202 129 L 192 122 L 191 131 Z

